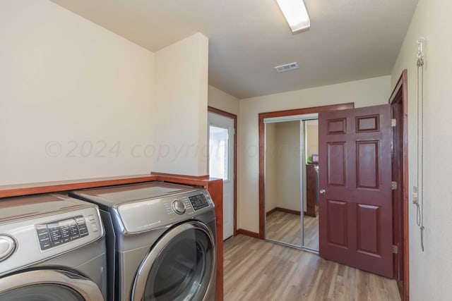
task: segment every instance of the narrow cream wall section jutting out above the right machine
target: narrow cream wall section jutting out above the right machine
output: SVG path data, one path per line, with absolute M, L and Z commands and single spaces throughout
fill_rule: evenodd
M 207 169 L 208 39 L 197 33 L 155 53 L 153 171 Z

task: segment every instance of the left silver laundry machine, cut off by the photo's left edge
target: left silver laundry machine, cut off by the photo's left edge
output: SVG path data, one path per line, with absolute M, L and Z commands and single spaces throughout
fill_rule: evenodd
M 64 195 L 0 199 L 0 300 L 107 300 L 95 204 Z

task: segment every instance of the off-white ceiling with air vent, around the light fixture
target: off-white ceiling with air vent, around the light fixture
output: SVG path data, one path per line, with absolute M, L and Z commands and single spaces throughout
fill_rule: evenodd
M 311 28 L 292 34 L 275 0 L 52 1 L 150 51 L 202 32 L 209 84 L 239 99 L 390 74 L 417 4 L 305 0 Z

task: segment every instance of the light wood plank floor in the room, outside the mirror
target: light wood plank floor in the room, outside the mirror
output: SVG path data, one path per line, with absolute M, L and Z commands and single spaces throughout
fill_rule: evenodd
M 225 301 L 400 300 L 396 281 L 245 235 L 225 241 L 224 267 Z

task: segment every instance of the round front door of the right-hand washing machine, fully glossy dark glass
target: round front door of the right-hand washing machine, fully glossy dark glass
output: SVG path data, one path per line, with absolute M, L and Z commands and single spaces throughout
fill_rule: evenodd
M 215 261 L 215 236 L 206 224 L 190 221 L 175 226 L 141 262 L 131 300 L 210 300 Z

